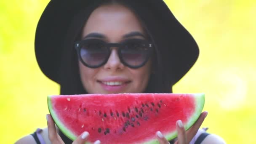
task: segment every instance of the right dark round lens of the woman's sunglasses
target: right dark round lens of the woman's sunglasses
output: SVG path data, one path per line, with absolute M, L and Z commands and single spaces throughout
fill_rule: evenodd
M 121 57 L 131 67 L 138 67 L 149 58 L 149 48 L 141 40 L 130 40 L 121 50 Z

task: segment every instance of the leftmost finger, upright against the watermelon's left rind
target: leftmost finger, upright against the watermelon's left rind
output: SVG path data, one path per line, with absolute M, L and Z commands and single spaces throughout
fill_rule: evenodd
M 60 144 L 64 143 L 59 134 L 56 131 L 55 123 L 51 117 L 51 115 L 46 115 L 46 120 L 47 120 L 47 127 L 48 127 L 48 138 L 49 140 L 54 144 Z

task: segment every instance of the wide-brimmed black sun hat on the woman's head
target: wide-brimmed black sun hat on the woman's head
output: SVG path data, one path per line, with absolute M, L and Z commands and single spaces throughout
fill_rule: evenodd
M 175 84 L 195 64 L 199 55 L 197 43 L 163 0 L 126 1 L 149 30 L 164 73 L 171 77 L 171 85 Z M 56 83 L 60 83 L 61 43 L 71 21 L 83 9 L 91 9 L 88 10 L 91 13 L 93 6 L 101 2 L 104 0 L 51 0 L 43 11 L 35 33 L 35 55 L 43 73 Z

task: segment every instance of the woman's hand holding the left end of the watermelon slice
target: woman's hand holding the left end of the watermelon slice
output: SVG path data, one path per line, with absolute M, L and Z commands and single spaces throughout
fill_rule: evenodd
M 52 144 L 65 144 L 57 133 L 55 123 L 51 115 L 46 115 L 47 126 L 48 126 L 48 137 Z M 87 131 L 83 132 L 80 136 L 73 141 L 72 144 L 85 144 L 86 140 L 89 138 L 89 133 Z M 99 140 L 95 141 L 94 144 L 100 144 Z

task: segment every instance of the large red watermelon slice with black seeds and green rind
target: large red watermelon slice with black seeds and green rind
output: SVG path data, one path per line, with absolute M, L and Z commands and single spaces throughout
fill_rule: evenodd
M 176 121 L 190 128 L 200 116 L 204 94 L 122 93 L 48 96 L 59 129 L 75 140 L 84 131 L 88 144 L 155 144 L 157 131 L 177 136 Z

